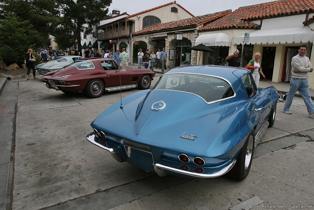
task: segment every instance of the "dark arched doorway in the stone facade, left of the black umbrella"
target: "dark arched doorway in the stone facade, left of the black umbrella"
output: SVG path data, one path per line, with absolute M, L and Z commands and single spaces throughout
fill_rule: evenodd
M 191 64 L 191 49 L 192 43 L 188 38 L 183 37 L 175 43 L 174 66 L 190 65 Z

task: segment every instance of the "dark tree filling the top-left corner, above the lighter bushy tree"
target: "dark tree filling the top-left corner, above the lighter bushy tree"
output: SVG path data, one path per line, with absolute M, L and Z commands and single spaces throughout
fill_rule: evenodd
M 29 21 L 32 27 L 28 32 L 35 47 L 39 48 L 50 43 L 49 34 L 60 24 L 58 7 L 57 0 L 2 0 L 0 18 L 14 15 L 20 21 Z

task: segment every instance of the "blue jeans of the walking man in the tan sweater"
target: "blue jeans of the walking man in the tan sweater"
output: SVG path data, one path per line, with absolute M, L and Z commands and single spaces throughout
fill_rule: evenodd
M 290 80 L 290 90 L 286 98 L 286 103 L 284 104 L 284 111 L 289 111 L 292 99 L 295 95 L 295 92 L 299 91 L 300 95 L 302 96 L 304 103 L 306 105 L 307 112 L 309 114 L 314 113 L 314 105 L 311 99 L 310 91 L 309 91 L 309 83 L 307 79 L 298 79 L 298 78 L 291 78 Z

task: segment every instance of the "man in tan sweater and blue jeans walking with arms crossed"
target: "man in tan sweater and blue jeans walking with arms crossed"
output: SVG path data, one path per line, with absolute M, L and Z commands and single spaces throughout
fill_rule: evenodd
M 282 110 L 282 112 L 286 114 L 291 114 L 291 111 L 289 109 L 292 103 L 292 99 L 295 95 L 295 92 L 299 91 L 305 102 L 309 117 L 313 117 L 314 106 L 309 91 L 309 83 L 307 82 L 306 78 L 306 73 L 312 72 L 313 68 L 310 63 L 310 59 L 305 56 L 306 50 L 306 45 L 300 45 L 298 49 L 299 54 L 294 56 L 291 60 L 292 76 L 290 80 L 290 90 L 287 94 L 286 103 L 284 104 L 284 109 Z

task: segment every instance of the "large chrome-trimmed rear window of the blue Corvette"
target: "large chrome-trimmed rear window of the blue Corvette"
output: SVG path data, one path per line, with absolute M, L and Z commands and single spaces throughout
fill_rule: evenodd
M 207 103 L 235 96 L 233 88 L 226 80 L 201 74 L 165 74 L 153 88 L 156 89 L 196 94 Z

